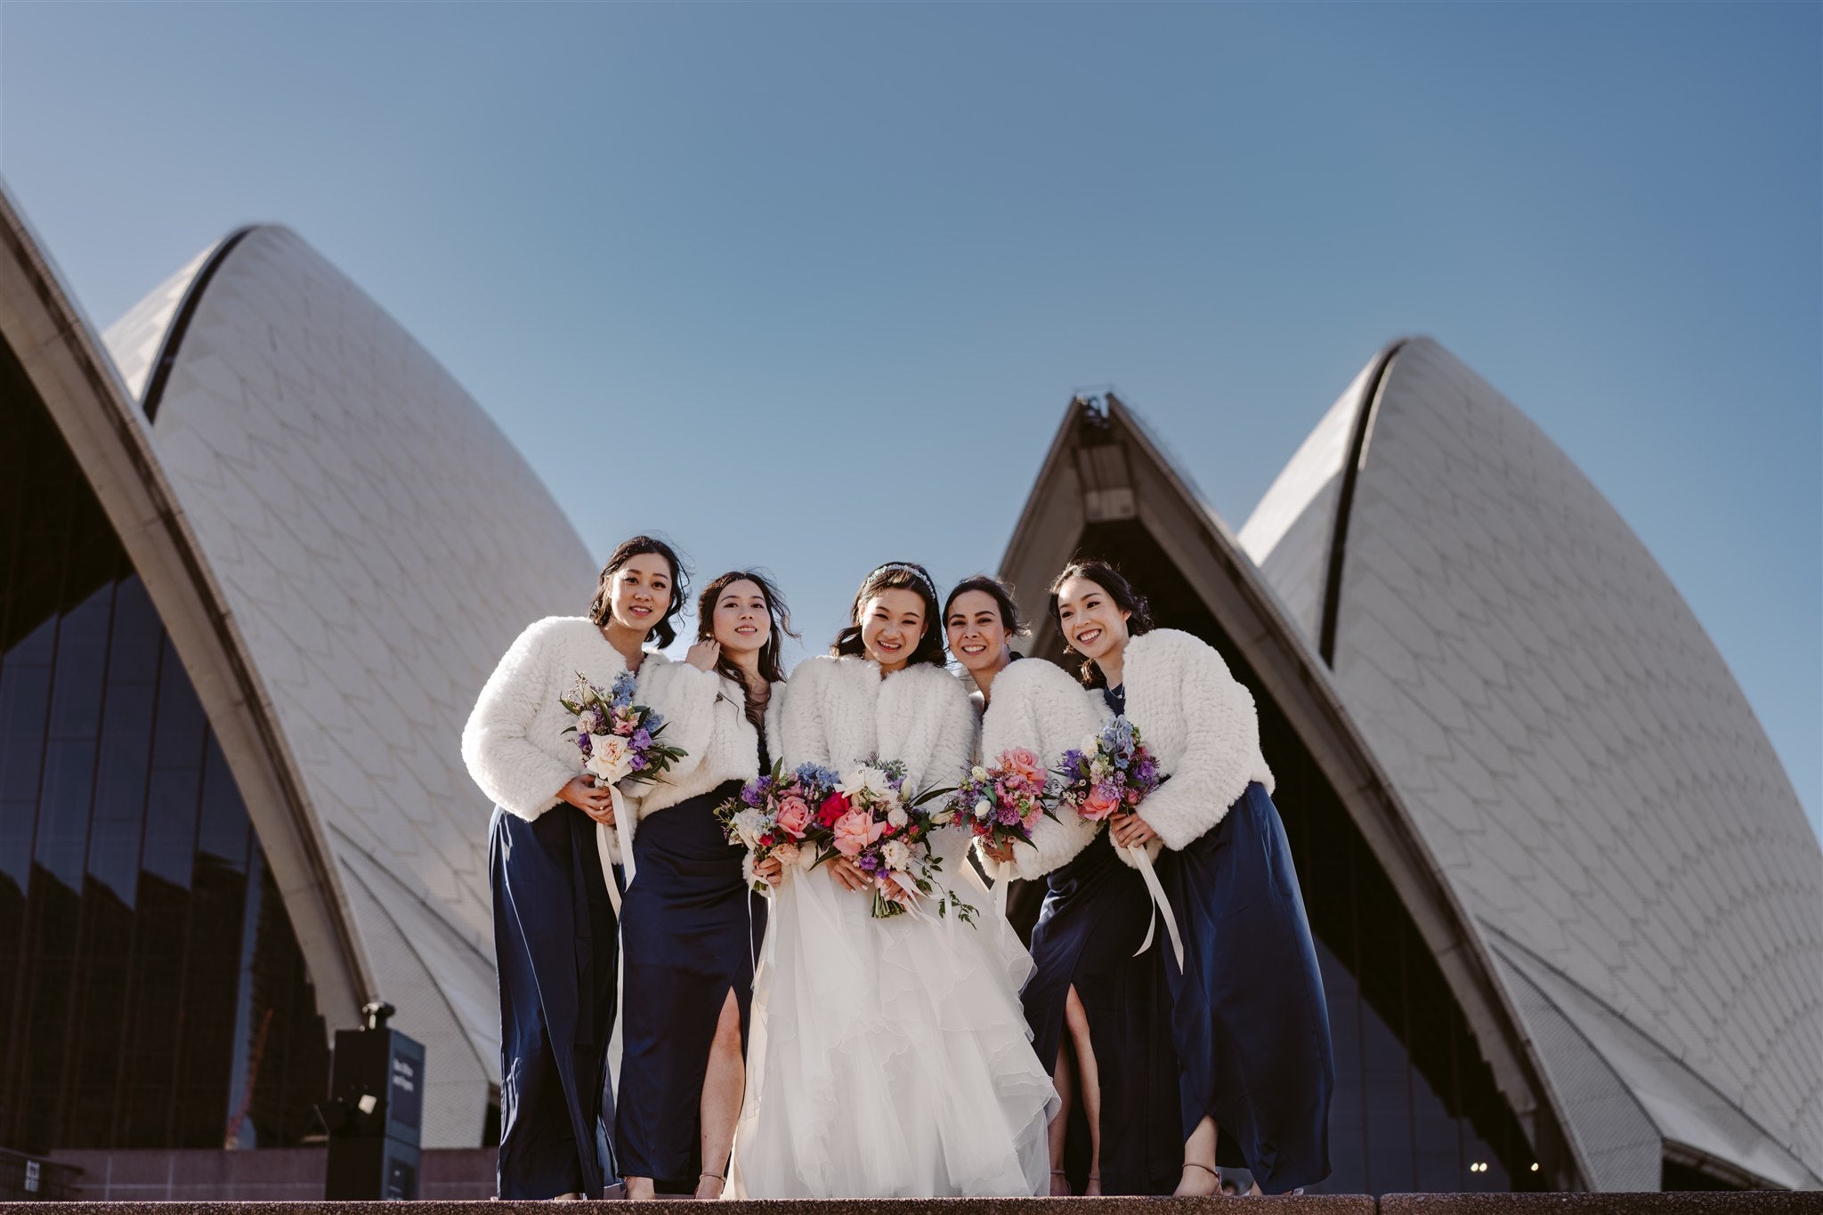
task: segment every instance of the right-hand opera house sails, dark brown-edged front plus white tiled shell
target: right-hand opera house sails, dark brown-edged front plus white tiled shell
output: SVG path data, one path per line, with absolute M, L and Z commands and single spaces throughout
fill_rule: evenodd
M 1003 574 L 1030 597 L 1077 552 L 1260 699 L 1331 1004 L 1325 1189 L 1819 1186 L 1816 836 L 1524 414 L 1398 342 L 1236 537 L 1130 410 L 1077 401 Z

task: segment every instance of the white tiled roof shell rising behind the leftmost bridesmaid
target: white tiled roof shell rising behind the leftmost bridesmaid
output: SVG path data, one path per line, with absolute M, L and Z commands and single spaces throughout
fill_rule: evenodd
M 186 266 L 106 341 L 142 392 Z M 202 288 L 153 441 L 339 862 L 376 995 L 427 1047 L 425 1146 L 481 1140 L 500 1080 L 490 805 L 459 736 L 532 619 L 594 565 L 505 435 L 284 228 Z

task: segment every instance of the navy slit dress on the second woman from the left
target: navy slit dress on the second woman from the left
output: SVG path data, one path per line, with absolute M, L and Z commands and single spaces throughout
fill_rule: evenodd
M 760 767 L 771 767 L 760 741 Z M 715 807 L 740 792 L 726 781 L 640 820 L 634 878 L 622 900 L 625 1009 L 614 1151 L 625 1177 L 660 1189 L 695 1189 L 702 1160 L 702 1082 L 727 993 L 740 1006 L 746 1057 L 753 960 L 766 934 L 766 900 L 742 878 L 746 851 L 729 843 Z

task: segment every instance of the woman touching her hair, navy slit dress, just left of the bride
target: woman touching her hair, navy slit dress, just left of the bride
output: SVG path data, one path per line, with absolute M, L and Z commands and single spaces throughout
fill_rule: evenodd
M 642 683 L 645 703 L 665 714 L 664 741 L 689 754 L 634 807 L 614 1131 L 629 1199 L 653 1197 L 658 1182 L 722 1195 L 766 933 L 747 853 L 727 842 L 715 807 L 771 769 L 767 721 L 784 689 L 789 618 L 773 585 L 746 570 L 709 583 L 696 616 L 687 661 Z

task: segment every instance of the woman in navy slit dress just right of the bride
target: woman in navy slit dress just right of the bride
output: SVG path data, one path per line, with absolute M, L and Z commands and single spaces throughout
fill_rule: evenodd
M 1004 645 L 1001 621 L 1023 630 L 999 583 L 970 579 L 952 592 L 950 648 L 977 685 L 984 679 L 970 641 L 973 650 L 983 639 Z M 988 674 L 983 763 L 1023 747 L 1056 767 L 1110 712 L 1099 692 L 1046 661 L 1003 661 Z M 1043 891 L 1023 1004 L 1032 1046 L 1063 1098 L 1050 1126 L 1050 1193 L 1170 1193 L 1183 1159 L 1178 1055 L 1159 951 L 1134 956 L 1150 913 L 1145 883 L 1105 832 L 1076 818 L 1039 820 L 1032 847 L 981 853 L 997 880 L 1028 880 Z

